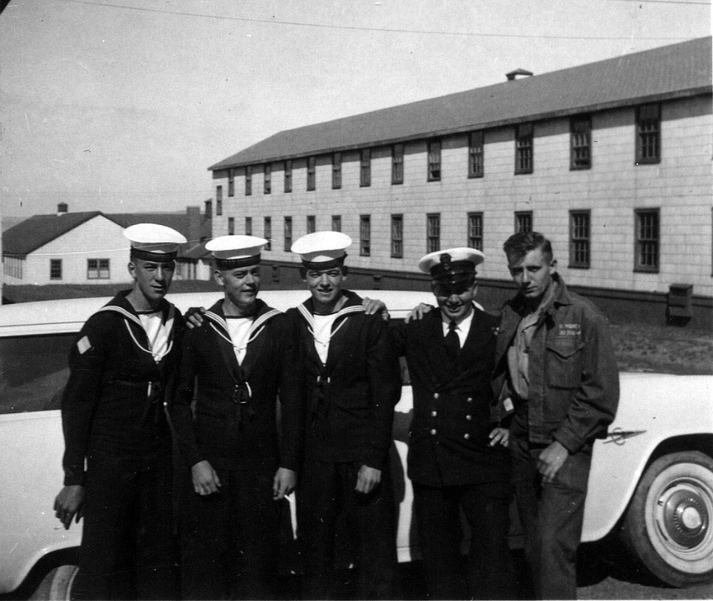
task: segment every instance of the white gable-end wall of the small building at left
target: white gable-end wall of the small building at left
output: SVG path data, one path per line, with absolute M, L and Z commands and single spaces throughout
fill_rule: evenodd
M 129 261 L 129 243 L 124 238 L 123 228 L 106 219 L 96 216 L 68 231 L 63 236 L 49 242 L 29 254 L 24 261 L 23 278 L 16 281 L 6 278 L 6 283 L 53 284 L 53 283 L 120 283 L 131 280 L 126 265 Z M 88 279 L 87 260 L 89 258 L 108 258 L 108 279 Z M 62 278 L 50 278 L 51 259 L 61 259 Z

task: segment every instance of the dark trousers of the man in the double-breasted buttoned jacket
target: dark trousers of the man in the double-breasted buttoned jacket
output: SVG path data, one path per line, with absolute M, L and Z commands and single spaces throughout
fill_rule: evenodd
M 414 510 L 431 599 L 513 599 L 508 547 L 510 483 L 431 487 L 414 483 Z M 461 510 L 471 529 L 465 564 Z

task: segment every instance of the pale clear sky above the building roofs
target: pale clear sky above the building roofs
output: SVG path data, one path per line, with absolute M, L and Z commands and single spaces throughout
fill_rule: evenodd
M 11 0 L 0 213 L 184 211 L 278 131 L 710 34 L 707 0 Z

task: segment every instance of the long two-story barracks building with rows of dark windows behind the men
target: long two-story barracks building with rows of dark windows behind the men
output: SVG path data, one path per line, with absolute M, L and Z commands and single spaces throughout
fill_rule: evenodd
M 279 132 L 209 168 L 212 234 L 270 239 L 286 287 L 315 229 L 354 239 L 353 288 L 427 290 L 421 256 L 474 246 L 497 309 L 503 241 L 535 229 L 611 317 L 710 327 L 711 57 L 700 38 Z

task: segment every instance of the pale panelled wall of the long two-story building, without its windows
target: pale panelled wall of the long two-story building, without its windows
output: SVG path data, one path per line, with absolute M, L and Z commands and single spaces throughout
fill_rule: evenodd
M 484 177 L 468 179 L 468 137 L 443 137 L 441 181 L 428 182 L 426 140 L 404 148 L 404 184 L 391 184 L 390 147 L 371 150 L 371 186 L 359 187 L 359 153 L 342 153 L 342 188 L 332 189 L 332 157 L 317 157 L 316 189 L 306 190 L 306 160 L 292 162 L 292 192 L 284 193 L 282 163 L 272 164 L 272 192 L 264 194 L 262 165 L 253 167 L 252 195 L 245 196 L 245 169 L 235 169 L 235 197 L 227 197 L 227 172 L 215 173 L 222 186 L 222 216 L 213 235 L 227 234 L 227 217 L 236 233 L 252 217 L 252 234 L 263 235 L 272 218 L 268 261 L 294 261 L 284 251 L 283 220 L 292 216 L 292 239 L 306 233 L 306 216 L 317 229 L 331 229 L 342 216 L 342 231 L 352 236 L 349 264 L 371 270 L 417 271 L 426 254 L 426 214 L 441 215 L 441 248 L 466 245 L 468 211 L 483 212 L 483 278 L 507 280 L 503 241 L 513 234 L 514 212 L 533 211 L 533 227 L 553 241 L 565 281 L 576 286 L 667 293 L 672 283 L 693 286 L 694 296 L 709 297 L 712 285 L 713 117 L 711 98 L 672 100 L 661 107 L 661 160 L 635 164 L 635 108 L 591 115 L 592 167 L 570 170 L 570 121 L 558 118 L 534 125 L 532 174 L 514 174 L 514 128 L 485 132 Z M 635 209 L 660 209 L 660 268 L 634 270 Z M 591 211 L 590 268 L 569 268 L 569 211 Z M 359 216 L 371 216 L 371 256 L 359 256 Z M 404 216 L 404 258 L 390 256 L 391 214 Z

